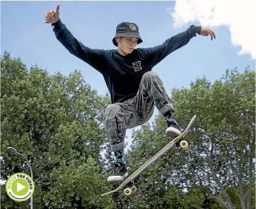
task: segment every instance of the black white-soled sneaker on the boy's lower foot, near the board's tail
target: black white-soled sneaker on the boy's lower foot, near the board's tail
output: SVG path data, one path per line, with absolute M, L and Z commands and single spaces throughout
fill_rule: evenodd
M 129 167 L 121 162 L 114 163 L 113 173 L 107 178 L 107 181 L 123 181 L 128 176 Z

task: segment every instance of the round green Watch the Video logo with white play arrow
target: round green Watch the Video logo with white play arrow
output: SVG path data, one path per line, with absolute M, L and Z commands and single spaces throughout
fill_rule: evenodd
M 28 174 L 15 173 L 6 181 L 5 190 L 12 200 L 22 202 L 32 197 L 35 184 Z

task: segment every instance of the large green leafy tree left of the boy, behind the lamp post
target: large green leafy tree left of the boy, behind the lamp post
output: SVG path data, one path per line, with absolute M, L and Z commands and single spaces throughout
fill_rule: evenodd
M 1 57 L 1 179 L 26 172 L 26 162 L 10 153 L 12 146 L 32 165 L 35 208 L 112 208 L 100 155 L 107 138 L 102 108 L 109 97 L 97 95 L 75 70 L 49 75 L 37 65 L 28 70 L 7 52 Z M 3 208 L 29 208 L 16 203 L 1 187 Z

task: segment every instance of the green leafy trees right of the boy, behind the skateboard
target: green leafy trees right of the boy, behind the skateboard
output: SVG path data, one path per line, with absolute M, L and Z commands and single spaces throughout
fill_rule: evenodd
M 255 72 L 248 68 L 244 73 L 235 68 L 213 84 L 203 77 L 192 82 L 190 88 L 172 90 L 171 101 L 181 127 L 186 128 L 193 115 L 197 119 L 186 137 L 190 148 L 170 149 L 137 179 L 138 196 L 142 195 L 146 205 L 159 206 L 159 201 L 167 201 L 163 194 L 169 187 L 191 193 L 191 188 L 197 186 L 201 195 L 195 208 L 207 199 L 224 208 L 255 207 L 254 78 Z M 166 122 L 158 116 L 155 124 L 145 124 L 134 132 L 127 160 L 132 172 L 170 141 L 165 130 Z M 186 207 L 190 197 L 186 198 L 178 208 Z

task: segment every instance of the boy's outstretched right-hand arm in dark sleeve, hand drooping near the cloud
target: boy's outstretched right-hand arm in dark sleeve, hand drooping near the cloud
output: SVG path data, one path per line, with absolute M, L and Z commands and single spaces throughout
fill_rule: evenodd
M 213 40 L 213 36 L 215 38 L 215 34 L 212 30 L 202 28 L 201 26 L 191 25 L 186 31 L 170 37 L 164 43 L 155 47 L 143 49 L 148 63 L 151 64 L 151 67 L 156 66 L 156 64 L 163 60 L 167 55 L 180 47 L 185 46 L 190 39 L 196 37 L 196 34 L 203 36 L 208 36 L 210 34 L 211 40 Z

